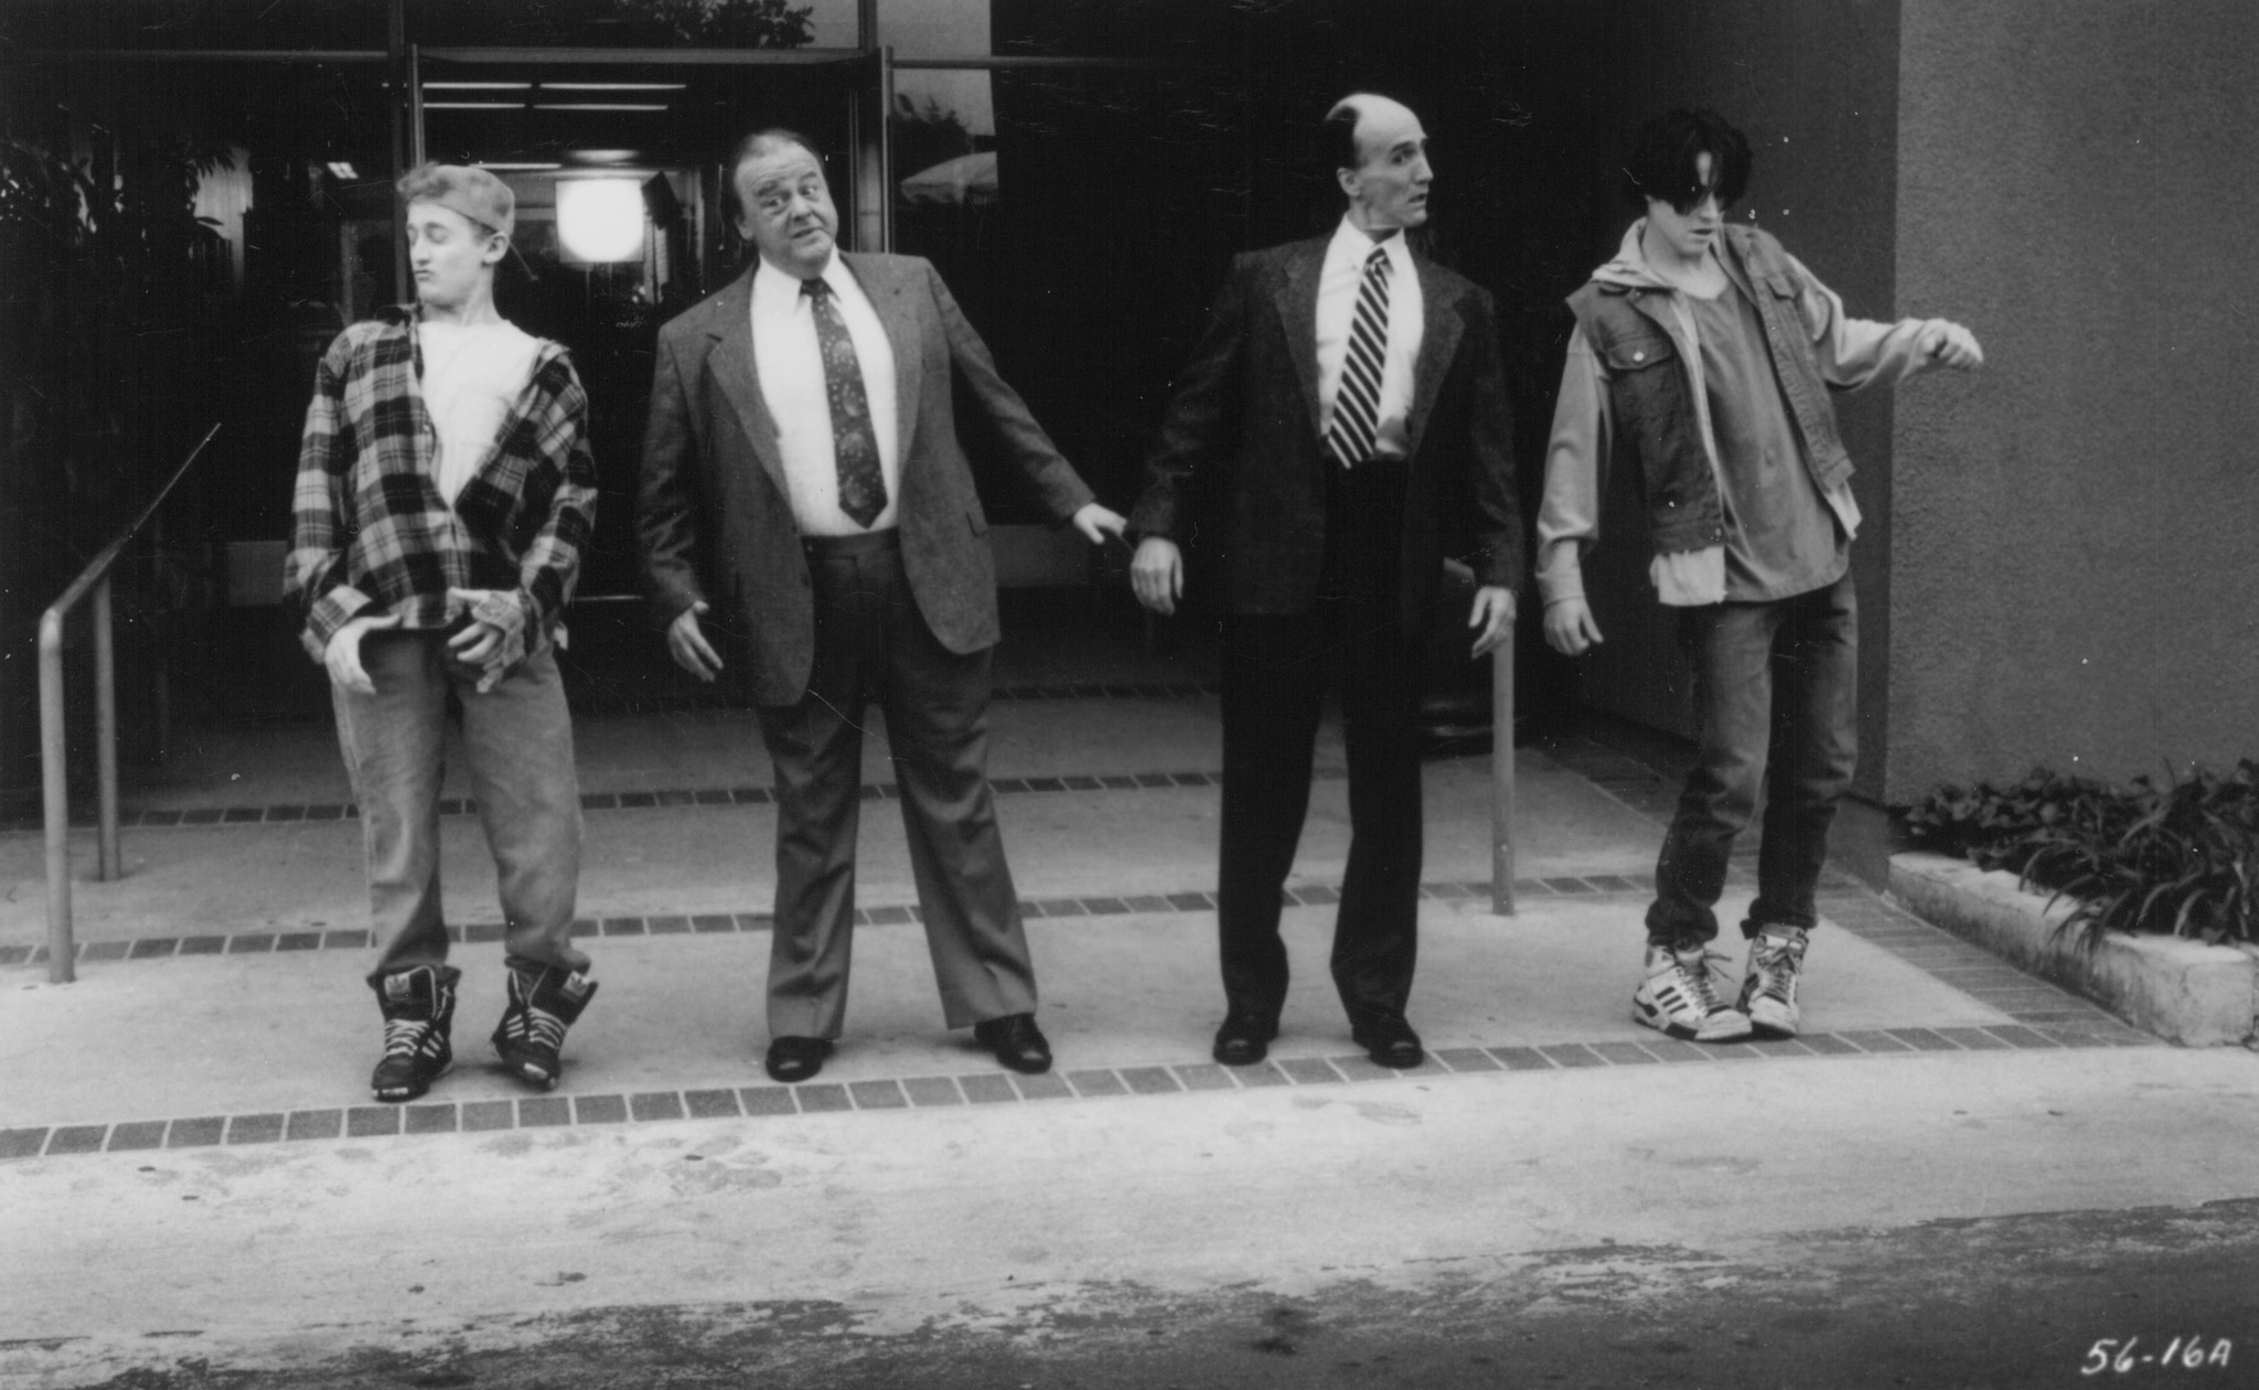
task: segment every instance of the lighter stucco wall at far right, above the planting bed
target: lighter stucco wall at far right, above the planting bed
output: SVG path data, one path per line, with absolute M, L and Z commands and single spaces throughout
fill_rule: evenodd
M 1886 793 L 2259 753 L 2259 5 L 1904 0 Z

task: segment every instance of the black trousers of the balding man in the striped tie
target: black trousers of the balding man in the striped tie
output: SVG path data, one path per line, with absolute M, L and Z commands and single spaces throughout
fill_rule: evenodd
M 1319 599 L 1224 619 L 1224 807 L 1218 938 L 1224 1004 L 1276 1019 L 1288 958 L 1279 906 L 1310 809 L 1310 753 L 1328 676 L 1349 744 L 1349 870 L 1333 985 L 1353 1026 L 1401 1022 L 1419 952 L 1419 653 L 1396 585 L 1403 466 L 1337 475 Z

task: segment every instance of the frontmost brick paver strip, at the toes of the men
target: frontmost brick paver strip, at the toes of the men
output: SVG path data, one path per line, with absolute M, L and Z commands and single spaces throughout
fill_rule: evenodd
M 1285 1058 L 1261 1067 L 1179 1062 L 1172 1067 L 1078 1067 L 1046 1076 L 976 1071 L 965 1076 L 904 1076 L 847 1083 L 694 1087 L 678 1092 L 556 1094 L 495 1101 L 418 1101 L 413 1105 L 350 1105 L 258 1114 L 201 1114 L 120 1123 L 34 1126 L 0 1130 L 0 1159 L 66 1157 L 156 1148 L 230 1148 L 239 1144 L 303 1144 L 312 1139 L 400 1139 L 535 1128 L 660 1126 L 703 1119 L 770 1119 L 793 1114 L 849 1114 L 865 1110 L 947 1110 L 1037 1101 L 1134 1101 L 1188 1092 L 1263 1087 L 1369 1085 L 1437 1080 L 1446 1076 L 1651 1067 L 1733 1060 L 1861 1060 L 1916 1058 L 1945 1051 L 2006 1053 L 2094 1046 L 2164 1046 L 2155 1037 L 2101 1019 L 2087 1026 L 1877 1028 L 1814 1033 L 1760 1042 L 1692 1044 L 1667 1037 L 1550 1042 L 1543 1046 L 1446 1046 L 1412 1071 L 1376 1067 L 1364 1055 Z

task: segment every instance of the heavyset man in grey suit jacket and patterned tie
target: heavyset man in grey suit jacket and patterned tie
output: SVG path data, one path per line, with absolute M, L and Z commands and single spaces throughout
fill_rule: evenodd
M 951 380 L 1053 515 L 1091 542 L 1123 518 L 996 375 L 931 264 L 836 251 L 804 138 L 748 136 L 732 192 L 759 258 L 660 330 L 637 533 L 669 651 L 700 680 L 723 651 L 741 664 L 777 768 L 768 1074 L 815 1076 L 840 1035 L 865 698 L 886 710 L 942 1013 L 1005 1067 L 1044 1071 L 987 782 L 996 567 Z

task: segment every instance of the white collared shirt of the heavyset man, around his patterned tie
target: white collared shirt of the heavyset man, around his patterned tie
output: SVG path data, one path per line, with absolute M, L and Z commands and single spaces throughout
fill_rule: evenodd
M 895 457 L 895 348 L 870 307 L 847 262 L 831 255 L 825 285 L 838 303 L 854 355 L 863 368 L 870 427 L 879 436 L 879 472 L 886 477 L 886 511 L 870 531 L 895 524 L 901 504 L 901 461 Z M 791 488 L 793 520 L 802 536 L 863 536 L 840 511 L 838 454 L 831 445 L 831 398 L 825 393 L 825 357 L 815 344 L 815 307 L 800 278 L 761 262 L 752 273 L 752 366 L 761 377 L 761 400 L 777 420 L 777 454 Z

